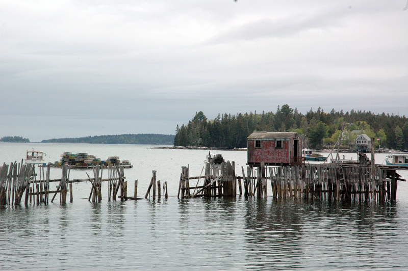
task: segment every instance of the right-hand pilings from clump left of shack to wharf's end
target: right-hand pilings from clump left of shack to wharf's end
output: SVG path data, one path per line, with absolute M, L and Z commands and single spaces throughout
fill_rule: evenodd
M 235 197 L 237 183 L 242 195 L 242 179 L 245 197 L 268 197 L 270 181 L 275 199 L 393 202 L 396 200 L 397 180 L 402 180 L 393 168 L 361 164 L 265 167 L 262 162 L 259 167 L 247 167 L 246 174 L 242 167 L 242 177 L 236 176 L 234 162 L 207 163 L 205 169 L 204 176 L 190 177 L 189 168 L 182 167 L 177 197 Z M 203 184 L 198 186 L 201 178 Z M 196 185 L 190 185 L 193 179 L 198 179 Z

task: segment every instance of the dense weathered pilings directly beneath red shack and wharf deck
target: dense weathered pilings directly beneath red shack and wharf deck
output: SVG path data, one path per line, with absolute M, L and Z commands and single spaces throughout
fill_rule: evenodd
M 261 163 L 257 177 L 253 175 L 254 168 L 248 167 L 247 177 L 243 177 L 245 197 L 267 197 L 270 181 L 276 199 L 393 202 L 397 180 L 402 180 L 392 168 L 375 167 L 372 172 L 369 166 L 342 164 L 265 167 Z

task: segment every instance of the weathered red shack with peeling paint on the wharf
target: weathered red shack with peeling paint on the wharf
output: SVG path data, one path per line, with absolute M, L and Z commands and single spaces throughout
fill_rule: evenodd
M 302 139 L 296 132 L 253 132 L 247 142 L 248 165 L 299 165 Z

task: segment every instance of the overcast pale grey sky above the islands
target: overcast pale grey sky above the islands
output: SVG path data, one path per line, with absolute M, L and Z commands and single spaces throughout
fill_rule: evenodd
M 408 116 L 406 0 L 0 7 L 0 137 L 174 134 L 283 104 Z

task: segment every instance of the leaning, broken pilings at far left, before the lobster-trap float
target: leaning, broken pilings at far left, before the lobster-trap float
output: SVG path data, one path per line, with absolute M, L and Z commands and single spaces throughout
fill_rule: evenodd
M 45 172 L 44 173 L 44 169 Z M 94 178 L 69 180 L 70 168 L 66 165 L 62 167 L 61 179 L 50 179 L 50 166 L 39 166 L 39 172 L 36 173 L 35 165 L 12 162 L 9 165 L 3 164 L 0 167 L 0 205 L 11 206 L 19 205 L 22 196 L 25 193 L 24 204 L 32 203 L 32 197 L 37 204 L 48 204 L 53 202 L 55 197 L 60 194 L 60 203 L 67 201 L 67 192 L 69 191 L 70 202 L 73 200 L 72 183 L 87 182 L 92 184 L 89 194 L 89 201 L 100 202 L 102 200 L 101 183 L 108 182 L 108 200 L 116 200 L 120 189 L 121 200 L 126 200 L 127 182 L 124 181 L 123 167 L 111 166 L 107 168 L 108 178 L 103 179 L 103 168 L 100 166 L 93 168 Z M 37 178 L 38 177 L 38 178 Z M 50 191 L 50 182 L 59 182 L 56 191 Z M 49 200 L 49 195 L 54 194 Z M 137 180 L 135 181 L 135 198 L 137 194 Z

